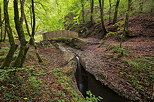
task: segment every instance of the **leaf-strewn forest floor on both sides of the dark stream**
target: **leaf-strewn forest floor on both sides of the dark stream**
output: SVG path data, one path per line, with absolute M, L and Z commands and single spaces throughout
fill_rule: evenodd
M 139 94 L 145 102 L 152 102 L 154 99 L 153 17 L 151 14 L 132 16 L 129 29 L 137 36 L 124 41 L 122 47 L 119 47 L 119 41 L 113 36 L 104 40 L 93 37 L 80 38 L 83 42 L 79 44 L 82 50 L 75 51 L 88 56 L 87 63 L 90 66 L 86 70 L 97 75 L 102 73 L 101 75 L 112 87 L 129 91 L 132 96 Z M 97 33 L 94 30 L 99 31 L 97 28 L 93 29 L 94 33 Z M 0 49 L 0 65 L 9 49 L 6 43 L 3 45 Z M 3 77 L 7 80 L 0 86 L 0 101 L 83 102 L 82 96 L 75 88 L 75 80 L 68 75 L 68 68 L 64 67 L 66 62 L 63 59 L 63 52 L 54 47 L 40 48 L 39 52 L 43 63 L 38 63 L 35 50 L 31 48 L 27 54 L 25 68 L 17 70 L 16 82 L 8 79 L 6 72 Z

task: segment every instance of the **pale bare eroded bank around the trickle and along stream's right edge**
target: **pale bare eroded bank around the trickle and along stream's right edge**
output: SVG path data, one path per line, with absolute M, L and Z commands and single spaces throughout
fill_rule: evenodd
M 119 74 L 120 68 L 123 64 L 117 60 L 106 57 L 95 50 L 86 49 L 86 51 L 75 50 L 60 45 L 59 48 L 64 52 L 65 59 L 68 65 L 72 67 L 71 73 L 74 74 L 76 70 L 76 54 L 81 58 L 81 64 L 85 70 L 93 74 L 97 80 L 102 84 L 115 91 L 120 96 L 129 100 L 142 102 L 141 96 L 133 88 L 133 86 L 125 81 Z

